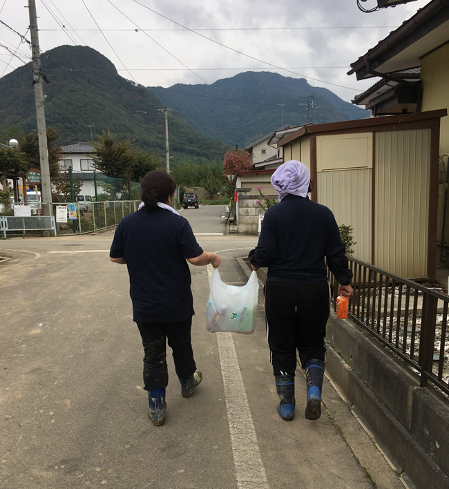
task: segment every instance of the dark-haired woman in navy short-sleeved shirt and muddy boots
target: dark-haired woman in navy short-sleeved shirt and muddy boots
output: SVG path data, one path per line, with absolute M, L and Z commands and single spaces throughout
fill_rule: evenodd
M 117 226 L 109 253 L 112 262 L 128 267 L 133 320 L 144 346 L 144 389 L 155 425 L 165 421 L 166 341 L 173 351 L 182 396 L 191 396 L 202 380 L 191 345 L 194 311 L 187 262 L 210 263 L 214 268 L 221 263 L 216 253 L 201 249 L 189 222 L 171 207 L 175 189 L 169 173 L 146 173 L 142 204 Z

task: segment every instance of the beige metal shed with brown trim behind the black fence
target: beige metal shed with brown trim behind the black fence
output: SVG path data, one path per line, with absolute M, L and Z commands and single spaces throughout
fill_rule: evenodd
M 311 198 L 354 229 L 354 256 L 392 274 L 434 278 L 440 119 L 446 109 L 309 124 L 279 140 Z

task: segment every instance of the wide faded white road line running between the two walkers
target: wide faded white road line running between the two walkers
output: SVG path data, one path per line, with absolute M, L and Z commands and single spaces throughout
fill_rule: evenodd
M 212 266 L 207 273 L 211 280 Z M 238 488 L 269 489 L 231 333 L 216 333 Z

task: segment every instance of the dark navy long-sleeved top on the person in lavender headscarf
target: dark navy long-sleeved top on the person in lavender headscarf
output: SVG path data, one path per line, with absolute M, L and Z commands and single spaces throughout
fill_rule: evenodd
M 254 267 L 268 267 L 267 282 L 327 280 L 325 257 L 336 280 L 348 285 L 352 270 L 334 214 L 308 197 L 292 194 L 267 209 L 258 245 L 249 253 Z

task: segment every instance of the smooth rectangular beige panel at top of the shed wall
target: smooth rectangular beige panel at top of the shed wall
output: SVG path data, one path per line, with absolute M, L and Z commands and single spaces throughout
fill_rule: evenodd
M 372 168 L 372 133 L 316 137 L 316 170 Z

